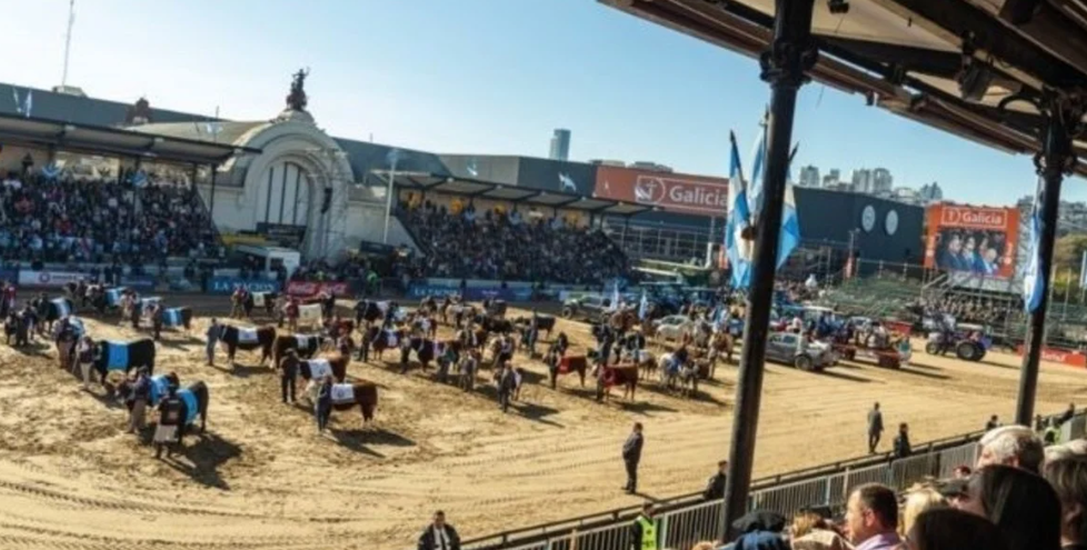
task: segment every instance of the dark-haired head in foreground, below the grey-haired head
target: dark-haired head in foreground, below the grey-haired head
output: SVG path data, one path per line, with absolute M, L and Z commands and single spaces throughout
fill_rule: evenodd
M 1060 501 L 1041 476 L 1010 466 L 987 466 L 970 479 L 958 507 L 996 523 L 1008 550 L 1060 548 Z

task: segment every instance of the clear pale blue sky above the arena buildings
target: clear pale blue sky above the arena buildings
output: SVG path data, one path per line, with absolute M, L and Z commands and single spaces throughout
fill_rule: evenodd
M 60 82 L 67 0 L 0 0 L 0 79 Z M 93 97 L 267 119 L 310 67 L 310 111 L 330 133 L 438 152 L 651 160 L 727 176 L 728 131 L 750 150 L 769 90 L 755 60 L 592 0 L 77 0 L 69 83 Z M 13 24 L 27 21 L 29 24 Z M 16 53 L 18 52 L 18 53 Z M 896 186 L 950 199 L 1033 193 L 1013 157 L 805 87 L 798 164 L 886 167 Z M 1081 179 L 1064 197 L 1087 199 Z

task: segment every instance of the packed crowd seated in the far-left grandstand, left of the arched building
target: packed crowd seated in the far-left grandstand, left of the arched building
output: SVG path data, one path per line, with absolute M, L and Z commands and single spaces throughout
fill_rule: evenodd
M 10 172 L 0 181 L 6 260 L 150 263 L 218 253 L 215 230 L 188 184 L 131 173 L 76 180 Z

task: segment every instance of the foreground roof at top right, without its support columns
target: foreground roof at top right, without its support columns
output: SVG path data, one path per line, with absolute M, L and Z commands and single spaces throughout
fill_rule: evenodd
M 774 39 L 774 0 L 600 1 L 749 57 Z M 1044 120 L 1003 101 L 1087 89 L 1083 0 L 816 0 L 811 33 L 815 80 L 1008 152 L 1039 152 Z

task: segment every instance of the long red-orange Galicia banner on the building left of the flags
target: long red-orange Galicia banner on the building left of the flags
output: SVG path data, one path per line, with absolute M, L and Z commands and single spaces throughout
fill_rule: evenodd
M 724 217 L 728 180 L 601 166 L 597 169 L 596 196 L 669 212 Z

